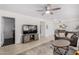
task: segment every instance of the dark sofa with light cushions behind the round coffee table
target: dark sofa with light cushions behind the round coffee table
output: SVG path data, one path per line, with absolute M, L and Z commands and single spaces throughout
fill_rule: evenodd
M 76 32 L 66 31 L 66 30 L 55 30 L 54 33 L 55 40 L 65 39 L 70 41 L 70 46 L 77 46 L 78 36 Z

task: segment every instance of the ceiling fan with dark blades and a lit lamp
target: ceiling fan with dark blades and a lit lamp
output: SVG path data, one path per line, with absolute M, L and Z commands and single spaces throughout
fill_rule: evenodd
M 51 14 L 53 15 L 53 11 L 60 10 L 61 8 L 52 8 L 51 4 L 47 4 L 42 10 L 37 10 L 38 12 L 43 12 L 42 15 Z

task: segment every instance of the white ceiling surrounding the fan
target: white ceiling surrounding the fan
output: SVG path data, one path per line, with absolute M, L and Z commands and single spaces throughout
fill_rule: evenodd
M 79 4 L 52 4 L 52 8 L 61 7 L 61 10 L 54 11 L 53 15 L 42 16 L 42 12 L 37 12 L 36 10 L 40 10 L 43 7 L 45 7 L 45 4 L 0 4 L 0 9 L 2 10 L 48 20 L 79 16 Z

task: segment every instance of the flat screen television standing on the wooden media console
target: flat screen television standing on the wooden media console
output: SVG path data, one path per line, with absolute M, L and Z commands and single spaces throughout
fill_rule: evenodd
M 37 25 L 23 25 L 23 34 L 37 33 Z

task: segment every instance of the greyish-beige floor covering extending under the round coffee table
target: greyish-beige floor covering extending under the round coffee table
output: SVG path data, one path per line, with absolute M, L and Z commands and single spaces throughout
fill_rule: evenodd
M 58 55 L 50 48 L 51 42 L 35 47 L 29 51 L 23 52 L 21 55 Z M 75 50 L 69 48 L 67 55 L 73 55 Z

